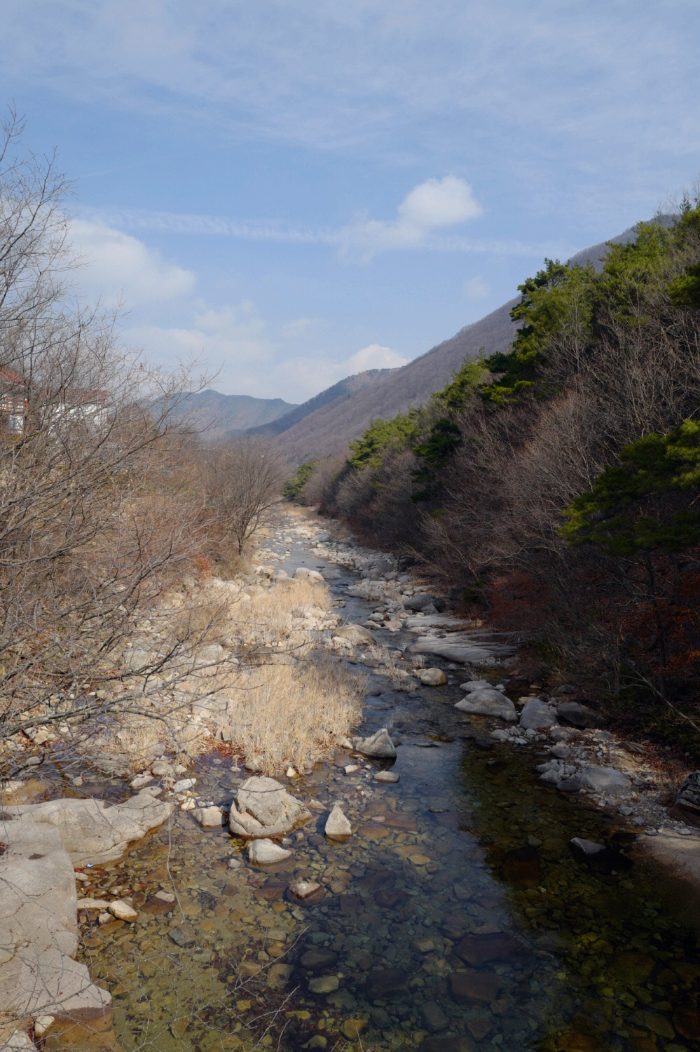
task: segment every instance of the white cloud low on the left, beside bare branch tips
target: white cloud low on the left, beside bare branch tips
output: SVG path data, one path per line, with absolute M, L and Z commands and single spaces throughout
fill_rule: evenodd
M 99 217 L 75 219 L 70 240 L 83 263 L 81 285 L 107 305 L 117 300 L 127 307 L 173 300 L 194 287 L 191 270 L 166 262 L 143 241 Z

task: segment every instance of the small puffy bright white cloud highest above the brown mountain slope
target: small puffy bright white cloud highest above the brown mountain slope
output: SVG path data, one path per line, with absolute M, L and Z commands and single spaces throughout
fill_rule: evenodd
M 407 194 L 396 209 L 396 219 L 358 219 L 345 227 L 341 255 L 358 255 L 366 262 L 380 251 L 418 248 L 429 244 L 435 230 L 458 226 L 480 215 L 481 206 L 464 179 L 428 179 Z

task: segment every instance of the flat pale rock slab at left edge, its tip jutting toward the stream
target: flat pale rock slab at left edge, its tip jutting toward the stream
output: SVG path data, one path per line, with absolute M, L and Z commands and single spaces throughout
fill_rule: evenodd
M 20 804 L 2 808 L 2 817 L 16 831 L 41 838 L 46 827 L 58 829 L 63 848 L 74 866 L 114 862 L 129 844 L 143 839 L 161 826 L 174 810 L 174 804 L 156 800 L 148 788 L 124 804 L 101 800 L 55 800 L 43 804 Z M 33 832 L 30 832 L 33 831 Z M 6 839 L 3 833 L 3 838 Z

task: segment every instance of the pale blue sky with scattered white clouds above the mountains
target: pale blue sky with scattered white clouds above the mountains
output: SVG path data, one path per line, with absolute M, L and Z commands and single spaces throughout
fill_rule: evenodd
M 301 402 L 689 186 L 699 45 L 697 0 L 23 0 L 0 104 L 125 344 Z

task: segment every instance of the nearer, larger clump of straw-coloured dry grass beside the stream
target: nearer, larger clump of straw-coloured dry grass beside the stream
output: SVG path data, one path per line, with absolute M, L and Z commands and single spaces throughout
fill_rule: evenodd
M 234 747 L 260 756 L 266 773 L 311 766 L 356 723 L 363 687 L 361 677 L 323 660 L 249 669 L 227 691 Z

